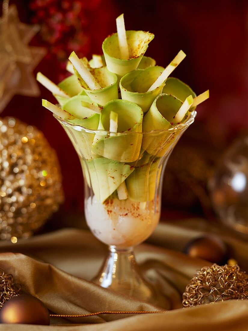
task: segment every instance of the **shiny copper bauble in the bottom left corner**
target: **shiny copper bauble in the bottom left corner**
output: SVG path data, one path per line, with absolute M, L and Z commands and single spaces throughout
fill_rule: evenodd
M 23 294 L 11 298 L 4 304 L 0 311 L 0 322 L 49 325 L 50 315 L 39 299 Z

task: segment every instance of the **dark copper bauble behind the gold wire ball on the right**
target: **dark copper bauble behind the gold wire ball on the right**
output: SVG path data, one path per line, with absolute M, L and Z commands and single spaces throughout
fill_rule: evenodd
M 193 258 L 217 264 L 224 264 L 227 260 L 227 248 L 223 241 L 215 236 L 195 238 L 186 245 L 184 251 Z

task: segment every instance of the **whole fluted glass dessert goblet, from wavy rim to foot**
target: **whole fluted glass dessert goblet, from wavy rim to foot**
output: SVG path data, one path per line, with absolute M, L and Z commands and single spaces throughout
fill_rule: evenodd
M 142 276 L 133 248 L 145 241 L 159 222 L 165 166 L 196 112 L 167 130 L 121 133 L 90 130 L 54 116 L 81 162 L 86 222 L 94 236 L 109 247 L 93 282 L 166 307 L 165 297 Z

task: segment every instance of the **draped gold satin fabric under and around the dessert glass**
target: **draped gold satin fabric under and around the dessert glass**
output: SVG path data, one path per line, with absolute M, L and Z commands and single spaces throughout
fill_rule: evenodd
M 50 326 L 1 324 L 0 330 L 247 331 L 248 300 L 182 308 L 182 293 L 189 280 L 197 269 L 212 263 L 191 258 L 180 251 L 188 240 L 211 232 L 223 238 L 232 257 L 245 270 L 245 239 L 200 219 L 160 222 L 149 243 L 136 247 L 135 256 L 141 270 L 168 299 L 168 311 L 164 313 L 105 314 L 67 319 L 53 317 Z M 65 228 L 19 240 L 17 244 L 2 242 L 0 267 L 13 275 L 24 292 L 39 298 L 51 313 L 161 310 L 90 282 L 98 272 L 106 251 L 105 245 L 88 230 Z

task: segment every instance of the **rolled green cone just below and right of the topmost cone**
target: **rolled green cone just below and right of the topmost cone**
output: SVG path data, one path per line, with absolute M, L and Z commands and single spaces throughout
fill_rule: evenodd
M 152 91 L 147 92 L 147 90 L 163 71 L 163 67 L 155 66 L 127 73 L 120 80 L 122 100 L 134 102 L 144 113 L 147 112 L 154 99 L 162 93 L 164 83 Z

